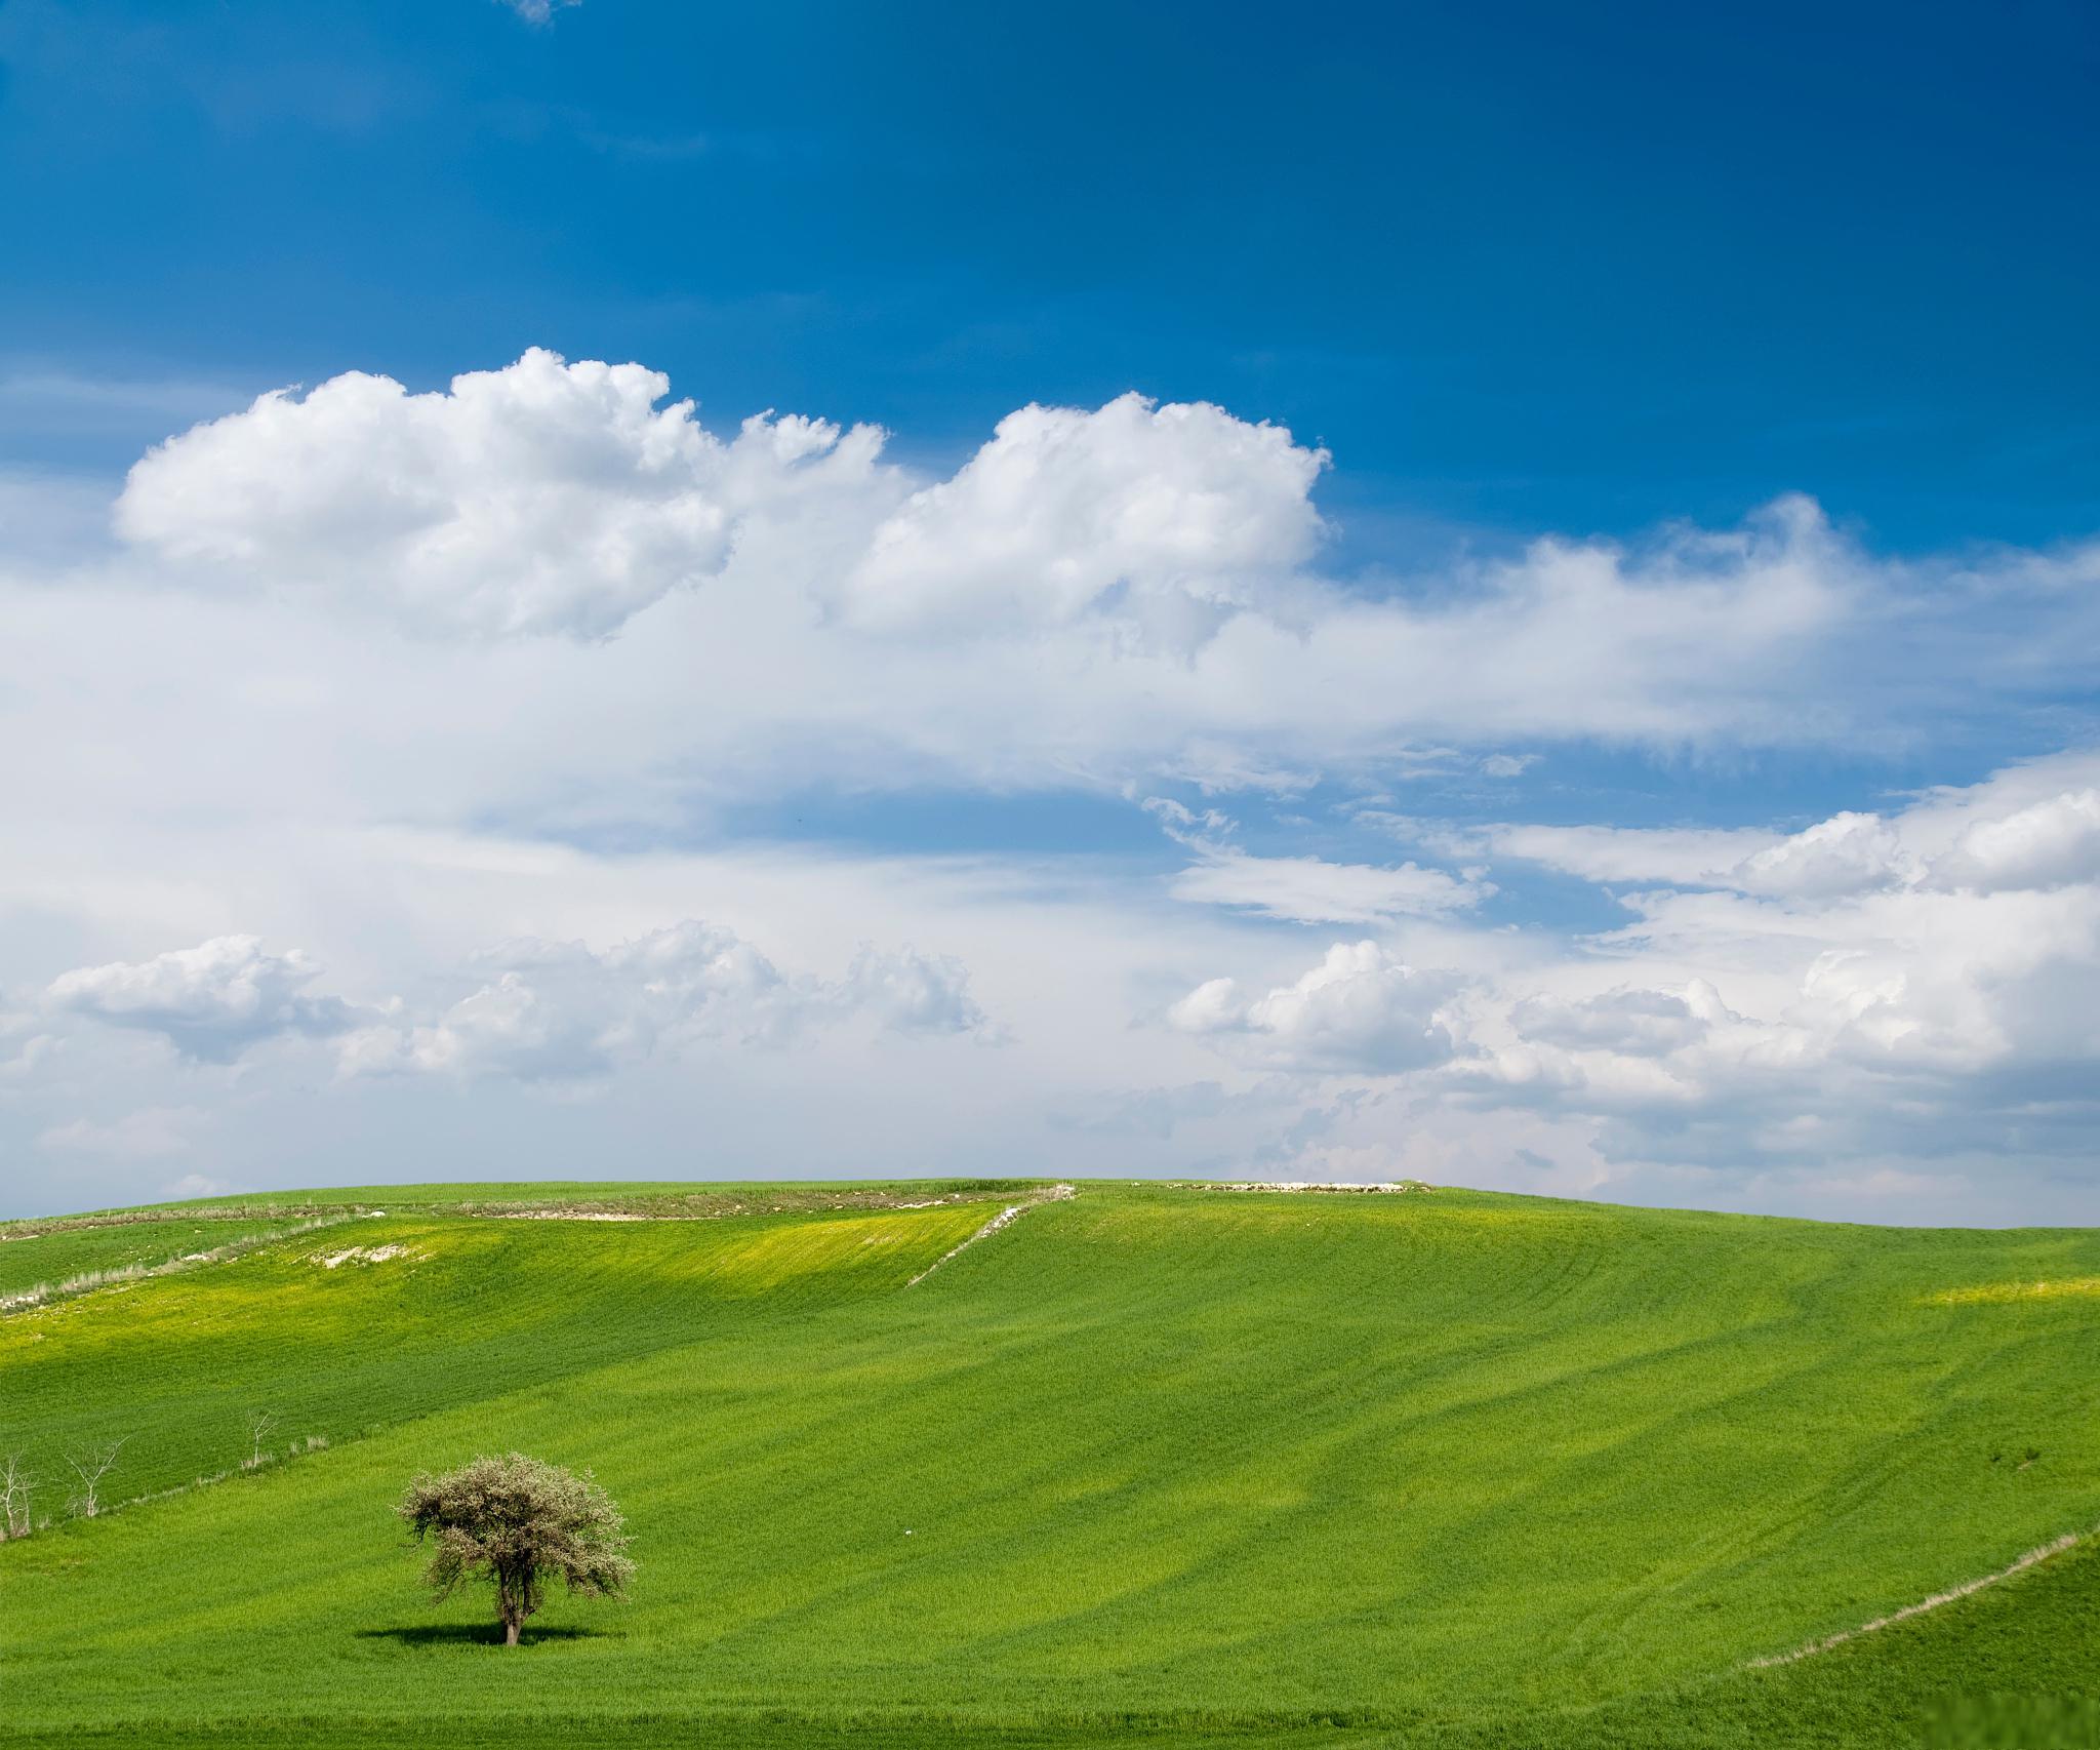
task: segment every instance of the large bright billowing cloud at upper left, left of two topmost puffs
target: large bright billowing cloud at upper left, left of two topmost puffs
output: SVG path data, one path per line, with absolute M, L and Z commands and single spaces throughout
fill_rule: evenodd
M 720 571 L 741 525 L 853 498 L 882 435 L 754 418 L 729 443 L 640 366 L 533 349 L 410 395 L 349 372 L 172 437 L 118 532 L 212 580 L 321 588 L 424 632 L 598 639 Z

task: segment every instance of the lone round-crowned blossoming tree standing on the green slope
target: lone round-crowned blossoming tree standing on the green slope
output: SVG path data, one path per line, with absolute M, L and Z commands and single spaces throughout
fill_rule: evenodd
M 540 1609 L 550 1576 L 586 1599 L 624 1597 L 634 1576 L 620 1508 L 590 1473 L 578 1477 L 523 1452 L 477 1458 L 443 1477 L 420 1475 L 399 1513 L 418 1542 L 437 1544 L 424 1580 L 439 1599 L 466 1580 L 496 1584 L 506 1647 Z

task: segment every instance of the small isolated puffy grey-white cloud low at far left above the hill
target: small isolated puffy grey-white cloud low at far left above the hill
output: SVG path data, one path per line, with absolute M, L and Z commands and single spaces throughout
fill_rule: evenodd
M 113 1027 L 160 1034 L 183 1057 L 231 1063 L 271 1038 L 319 1038 L 355 1025 L 334 996 L 313 996 L 321 968 L 304 954 L 267 954 L 252 935 L 220 935 L 151 960 L 80 966 L 52 981 L 46 1000 Z

